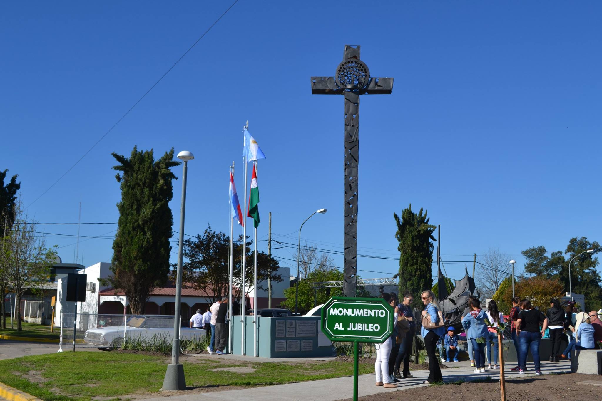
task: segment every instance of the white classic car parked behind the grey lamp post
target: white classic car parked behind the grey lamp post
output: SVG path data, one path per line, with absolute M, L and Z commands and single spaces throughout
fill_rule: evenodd
M 99 320 L 101 327 L 89 329 L 84 334 L 84 342 L 93 344 L 99 348 L 112 348 L 120 346 L 124 334 L 128 338 L 166 338 L 173 340 L 173 317 L 171 316 L 144 316 L 132 315 L 126 320 L 125 328 L 111 325 L 112 322 Z M 201 338 L 205 329 L 194 329 L 189 327 L 180 328 L 180 340 L 192 340 Z

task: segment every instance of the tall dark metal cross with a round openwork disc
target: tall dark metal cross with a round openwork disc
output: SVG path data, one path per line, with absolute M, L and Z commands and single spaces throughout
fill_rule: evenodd
M 356 296 L 358 272 L 358 153 L 359 95 L 390 94 L 393 78 L 372 78 L 368 66 L 359 60 L 359 46 L 345 45 L 343 61 L 335 76 L 312 76 L 312 94 L 345 96 L 344 182 L 344 256 L 343 294 Z

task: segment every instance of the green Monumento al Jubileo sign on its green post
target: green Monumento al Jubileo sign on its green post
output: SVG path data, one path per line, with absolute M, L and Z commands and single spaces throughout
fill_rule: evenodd
M 393 308 L 382 298 L 335 296 L 322 307 L 321 329 L 330 341 L 353 342 L 353 400 L 358 399 L 359 343 L 383 343 L 393 333 Z

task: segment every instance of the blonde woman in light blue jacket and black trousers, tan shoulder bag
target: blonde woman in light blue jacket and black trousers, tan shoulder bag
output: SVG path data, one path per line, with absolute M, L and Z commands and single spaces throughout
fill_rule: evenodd
M 439 341 L 439 337 L 442 337 L 445 334 L 445 327 L 443 326 L 443 322 L 439 322 L 439 306 L 437 305 L 435 294 L 430 290 L 426 290 L 420 295 L 420 298 L 422 298 L 422 303 L 424 304 L 422 316 L 428 314 L 431 322 L 441 324 L 439 327 L 433 329 L 426 329 L 422 326 L 420 330 L 424 340 L 426 354 L 429 355 L 429 377 L 424 383 L 433 384 L 435 382 L 443 381 L 441 367 L 439 367 L 439 358 L 437 358 L 435 354 L 435 348 L 437 346 L 437 341 Z

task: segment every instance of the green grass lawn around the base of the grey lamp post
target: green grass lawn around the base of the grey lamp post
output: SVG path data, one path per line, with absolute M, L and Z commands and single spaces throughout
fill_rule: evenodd
M 35 355 L 0 361 L 0 382 L 43 400 L 117 398 L 159 391 L 170 360 L 117 351 Z M 181 363 L 188 387 L 261 386 L 353 375 L 353 363 L 341 361 L 250 363 L 184 357 Z M 254 371 L 214 371 L 229 367 L 250 367 Z M 360 374 L 371 372 L 373 365 L 359 365 Z

